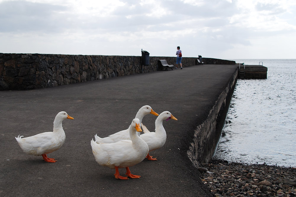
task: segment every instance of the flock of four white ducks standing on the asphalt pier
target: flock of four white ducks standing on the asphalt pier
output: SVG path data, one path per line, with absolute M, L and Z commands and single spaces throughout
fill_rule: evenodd
M 147 114 L 156 115 L 155 132 L 150 132 L 143 124 L 142 119 Z M 27 154 L 42 156 L 46 162 L 56 162 L 53 158 L 48 158 L 46 154 L 58 150 L 65 142 L 66 135 L 62 128 L 62 121 L 74 119 L 66 112 L 59 112 L 54 118 L 53 132 L 39 133 L 34 136 L 22 138 L 15 137 L 21 149 Z M 152 110 L 149 105 L 141 107 L 136 117 L 131 122 L 129 128 L 114 133 L 108 137 L 100 138 L 97 134 L 91 139 L 91 148 L 99 165 L 115 168 L 116 179 L 140 178 L 131 174 L 129 167 L 136 165 L 145 158 L 157 160 L 149 155 L 149 152 L 161 148 L 166 141 L 166 132 L 163 127 L 164 120 L 177 120 L 169 111 L 164 111 L 160 115 Z M 140 135 L 141 126 L 143 134 Z M 119 175 L 118 168 L 126 168 L 126 175 Z

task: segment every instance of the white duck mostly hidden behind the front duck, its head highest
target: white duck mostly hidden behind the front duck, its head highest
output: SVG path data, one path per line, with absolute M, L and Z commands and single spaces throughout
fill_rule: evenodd
M 158 115 L 155 111 L 152 110 L 152 108 L 149 105 L 145 105 L 139 109 L 135 118 L 138 118 L 140 120 L 140 124 L 141 124 L 144 116 L 149 113 L 156 115 L 156 116 Z M 140 136 L 140 133 L 138 133 L 138 136 Z M 100 138 L 96 134 L 94 136 L 94 138 L 95 138 L 96 142 L 103 142 L 103 143 L 114 143 L 114 142 L 118 142 L 120 140 L 130 139 L 129 128 L 127 128 L 126 130 L 123 130 L 123 131 L 118 131 L 117 133 L 114 133 L 114 134 L 112 134 L 108 137 L 105 137 L 105 138 Z

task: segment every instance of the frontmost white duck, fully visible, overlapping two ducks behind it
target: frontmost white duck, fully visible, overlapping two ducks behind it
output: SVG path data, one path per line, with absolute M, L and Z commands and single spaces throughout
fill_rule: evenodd
M 138 135 L 141 132 L 140 121 L 133 119 L 129 128 L 131 140 L 122 140 L 115 143 L 99 143 L 91 139 L 91 148 L 99 165 L 115 168 L 116 179 L 128 179 L 119 175 L 118 168 L 126 168 L 126 175 L 130 178 L 140 178 L 141 176 L 132 175 L 128 167 L 136 165 L 145 159 L 148 154 L 148 145 Z

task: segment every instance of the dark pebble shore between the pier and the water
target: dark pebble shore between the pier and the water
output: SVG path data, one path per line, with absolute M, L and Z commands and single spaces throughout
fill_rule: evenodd
M 213 160 L 198 168 L 213 196 L 296 196 L 296 168 Z

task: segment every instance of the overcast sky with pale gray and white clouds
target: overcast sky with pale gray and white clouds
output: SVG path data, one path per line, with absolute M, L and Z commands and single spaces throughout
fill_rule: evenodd
M 0 0 L 0 53 L 296 58 L 295 0 Z

